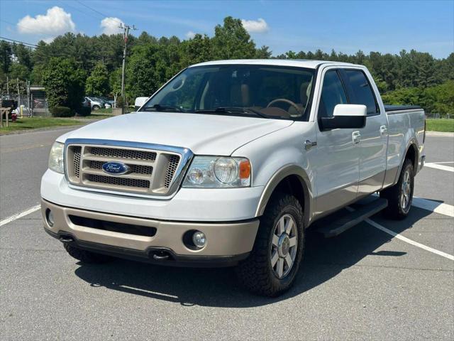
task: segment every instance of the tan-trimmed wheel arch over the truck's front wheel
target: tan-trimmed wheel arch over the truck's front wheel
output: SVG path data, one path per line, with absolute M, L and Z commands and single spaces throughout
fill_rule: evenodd
M 280 168 L 279 171 L 272 175 L 272 178 L 265 186 L 255 216 L 260 217 L 263 215 L 270 198 L 277 190 L 284 190 L 284 192 L 297 197 L 297 200 L 301 203 L 304 214 L 304 227 L 307 227 L 311 218 L 312 200 L 314 197 L 310 184 L 309 176 L 301 167 L 290 165 Z

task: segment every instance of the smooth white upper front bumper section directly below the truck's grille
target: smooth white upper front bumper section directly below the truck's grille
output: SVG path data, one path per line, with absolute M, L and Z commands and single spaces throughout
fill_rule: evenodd
M 171 200 L 158 200 L 72 188 L 65 175 L 49 169 L 41 180 L 41 197 L 60 206 L 183 222 L 237 222 L 254 219 L 264 189 L 263 186 L 180 188 Z

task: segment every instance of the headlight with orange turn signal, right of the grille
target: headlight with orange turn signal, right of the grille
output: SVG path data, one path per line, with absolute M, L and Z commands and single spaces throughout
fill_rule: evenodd
M 196 156 L 184 177 L 183 187 L 249 187 L 250 173 L 250 162 L 247 158 Z

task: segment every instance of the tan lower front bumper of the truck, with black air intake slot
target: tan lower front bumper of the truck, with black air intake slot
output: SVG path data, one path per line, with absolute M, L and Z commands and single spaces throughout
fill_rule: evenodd
M 54 217 L 52 227 L 48 223 L 48 210 L 52 211 Z M 245 259 L 252 250 L 259 225 L 257 219 L 228 223 L 151 220 L 79 210 L 55 205 L 47 200 L 41 200 L 41 212 L 46 232 L 52 237 L 70 242 L 82 249 L 178 266 L 236 264 L 239 260 Z M 86 226 L 90 224 L 80 223 L 81 221 L 109 222 L 117 227 L 126 226 L 126 229 L 121 232 L 118 232 L 119 229 L 116 231 L 100 229 Z M 147 228 L 153 229 L 155 233 L 130 234 L 127 230 L 128 226 L 138 226 L 141 231 L 146 231 Z M 190 230 L 204 232 L 207 242 L 203 249 L 189 249 L 184 244 L 183 236 Z

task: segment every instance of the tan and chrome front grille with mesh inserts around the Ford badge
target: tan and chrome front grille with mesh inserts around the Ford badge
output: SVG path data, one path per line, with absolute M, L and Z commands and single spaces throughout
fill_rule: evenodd
M 99 146 L 96 141 L 99 140 L 67 141 L 65 173 L 72 185 L 109 192 L 171 195 L 192 156 L 184 148 L 104 140 L 99 141 L 102 144 Z M 104 172 L 102 166 L 109 161 L 124 163 L 129 167 L 128 173 L 112 175 Z

